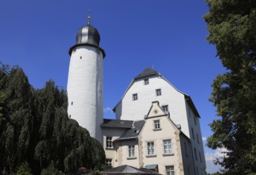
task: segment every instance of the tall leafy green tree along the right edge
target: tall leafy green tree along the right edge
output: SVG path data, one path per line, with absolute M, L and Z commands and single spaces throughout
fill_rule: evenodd
M 226 148 L 226 156 L 216 161 L 223 173 L 256 173 L 256 1 L 206 2 L 207 40 L 226 68 L 212 84 L 210 100 L 219 119 L 210 124 L 207 146 Z

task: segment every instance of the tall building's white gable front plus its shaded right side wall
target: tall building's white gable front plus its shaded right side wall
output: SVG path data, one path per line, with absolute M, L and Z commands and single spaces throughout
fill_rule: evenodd
M 160 94 L 157 94 L 159 90 Z M 132 80 L 120 103 L 114 108 L 116 119 L 142 120 L 147 117 L 153 101 L 159 101 L 160 107 L 167 105 L 171 120 L 180 125 L 183 134 L 191 139 L 196 174 L 205 172 L 206 162 L 199 114 L 194 103 L 188 95 L 177 90 L 160 74 Z

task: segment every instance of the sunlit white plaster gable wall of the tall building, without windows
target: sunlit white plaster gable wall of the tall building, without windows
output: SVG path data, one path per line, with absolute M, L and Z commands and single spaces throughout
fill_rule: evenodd
M 180 124 L 183 133 L 190 138 L 187 124 L 187 111 L 184 95 L 171 86 L 160 76 L 152 76 L 149 84 L 144 80 L 136 80 L 126 91 L 121 102 L 116 106 L 116 119 L 141 120 L 152 105 L 152 101 L 159 101 L 160 106 L 168 105 L 170 116 L 175 124 Z M 161 89 L 162 95 L 156 96 L 156 89 Z M 138 94 L 138 100 L 132 100 L 132 94 Z

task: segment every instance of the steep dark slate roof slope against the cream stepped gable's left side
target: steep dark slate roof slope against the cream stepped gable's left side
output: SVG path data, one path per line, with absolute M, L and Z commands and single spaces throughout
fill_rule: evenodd
M 133 123 L 133 127 L 129 130 L 126 130 L 120 138 L 117 138 L 116 140 L 124 140 L 128 138 L 136 138 L 138 134 L 140 134 L 140 130 L 142 126 L 144 125 L 144 120 L 136 121 Z

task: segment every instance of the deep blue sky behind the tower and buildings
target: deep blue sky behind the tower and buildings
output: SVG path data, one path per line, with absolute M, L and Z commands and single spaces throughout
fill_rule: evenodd
M 0 61 L 19 65 L 34 88 L 47 80 L 66 88 L 69 48 L 77 30 L 91 24 L 100 32 L 104 59 L 104 115 L 116 106 L 132 79 L 147 67 L 160 72 L 180 91 L 191 95 L 199 114 L 203 138 L 215 107 L 208 101 L 212 80 L 225 72 L 214 45 L 206 41 L 203 0 L 1 0 Z M 204 141 L 205 142 L 205 141 Z M 205 147 L 207 170 L 220 150 Z

